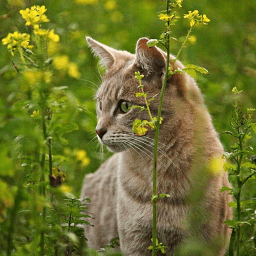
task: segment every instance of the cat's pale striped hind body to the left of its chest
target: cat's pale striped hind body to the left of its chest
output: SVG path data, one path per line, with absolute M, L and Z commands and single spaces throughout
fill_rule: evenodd
M 118 237 L 116 221 L 116 180 L 119 154 L 115 154 L 103 163 L 93 174 L 88 174 L 84 181 L 81 199 L 90 198 L 87 205 L 87 219 L 91 225 L 86 226 L 88 246 L 102 248 L 112 238 Z

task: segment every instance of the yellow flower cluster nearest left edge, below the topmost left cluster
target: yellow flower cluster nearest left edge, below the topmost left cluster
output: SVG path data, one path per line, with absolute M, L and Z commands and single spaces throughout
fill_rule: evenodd
M 9 33 L 7 37 L 2 39 L 3 45 L 7 45 L 7 49 L 10 50 L 12 56 L 14 55 L 14 52 L 18 49 L 21 50 L 21 47 L 24 48 L 32 48 L 32 45 L 29 45 L 30 43 L 30 35 L 23 33 L 20 34 L 17 31 L 14 33 Z

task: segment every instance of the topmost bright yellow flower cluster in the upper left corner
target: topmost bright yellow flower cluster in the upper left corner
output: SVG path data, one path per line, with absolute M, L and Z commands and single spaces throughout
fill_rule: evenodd
M 32 6 L 30 9 L 20 10 L 19 13 L 26 19 L 26 26 L 39 25 L 45 22 L 50 22 L 50 19 L 44 14 L 47 11 L 46 7 L 43 6 Z

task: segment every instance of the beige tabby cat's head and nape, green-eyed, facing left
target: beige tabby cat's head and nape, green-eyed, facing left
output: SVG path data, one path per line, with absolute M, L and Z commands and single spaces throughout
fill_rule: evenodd
M 151 101 L 150 110 L 152 116 L 156 117 L 165 74 L 166 53 L 157 47 L 148 47 L 147 38 L 138 40 L 135 54 L 115 50 L 90 37 L 87 37 L 87 41 L 107 69 L 96 94 L 96 133 L 99 142 L 114 152 L 127 148 L 138 151 L 142 148 L 151 150 L 154 138 L 152 130 L 143 137 L 138 137 L 132 132 L 134 120 L 149 120 L 147 111 L 130 109 L 133 105 L 145 106 L 144 98 L 136 97 L 136 93 L 141 92 L 141 89 L 138 88 L 139 82 L 135 79 L 135 72 L 140 71 L 144 75 L 141 82 L 147 98 L 155 98 Z M 170 61 L 172 59 L 174 56 L 171 56 Z M 179 61 L 175 64 L 175 69 L 177 68 L 184 68 Z M 190 101 L 196 104 L 201 104 L 202 101 L 193 79 L 186 74 L 169 77 L 161 115 L 163 122 L 160 141 L 161 138 L 171 138 L 172 133 L 174 135 L 179 129 L 181 119 L 189 119 Z M 180 113 L 177 114 L 178 112 Z

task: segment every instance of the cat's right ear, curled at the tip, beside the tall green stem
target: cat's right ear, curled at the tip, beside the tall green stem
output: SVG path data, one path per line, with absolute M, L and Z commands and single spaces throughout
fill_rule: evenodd
M 142 37 L 137 41 L 134 65 L 147 74 L 161 74 L 165 69 L 166 58 L 163 51 L 153 46 L 147 46 L 148 38 Z

